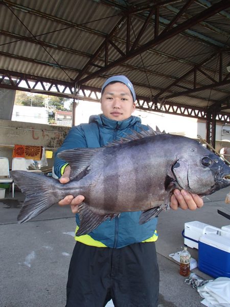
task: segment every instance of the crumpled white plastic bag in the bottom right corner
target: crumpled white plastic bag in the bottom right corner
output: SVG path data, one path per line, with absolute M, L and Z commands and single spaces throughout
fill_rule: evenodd
M 202 304 L 208 307 L 230 306 L 230 278 L 218 277 L 204 286 L 197 288 L 200 296 L 204 298 Z

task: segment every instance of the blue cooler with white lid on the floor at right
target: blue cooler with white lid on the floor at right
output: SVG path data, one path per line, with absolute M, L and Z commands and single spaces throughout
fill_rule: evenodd
M 200 236 L 198 269 L 215 278 L 230 278 L 230 238 L 214 233 Z

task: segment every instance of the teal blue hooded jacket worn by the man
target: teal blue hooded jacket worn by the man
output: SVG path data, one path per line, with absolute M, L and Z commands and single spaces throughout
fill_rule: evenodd
M 147 130 L 147 126 L 141 124 L 141 119 L 135 116 L 124 121 L 115 121 L 106 118 L 104 115 L 90 116 L 88 124 L 74 126 L 62 146 L 57 150 L 54 171 L 61 177 L 61 168 L 66 161 L 57 157 L 57 153 L 72 148 L 79 147 L 102 147 L 113 140 L 132 134 L 132 130 L 140 131 L 141 128 Z M 157 218 L 140 225 L 138 212 L 122 212 L 113 220 L 106 220 L 95 230 L 89 233 L 90 237 L 103 243 L 107 247 L 121 248 L 133 243 L 140 243 L 153 236 L 156 229 Z M 80 225 L 79 216 L 76 214 L 76 223 Z

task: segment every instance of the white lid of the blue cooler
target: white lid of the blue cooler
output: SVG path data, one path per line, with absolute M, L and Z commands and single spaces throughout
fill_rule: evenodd
M 230 253 L 230 238 L 215 233 L 203 234 L 199 241 Z

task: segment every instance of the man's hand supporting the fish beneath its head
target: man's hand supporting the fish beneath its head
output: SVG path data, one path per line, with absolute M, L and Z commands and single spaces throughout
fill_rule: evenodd
M 175 189 L 171 197 L 170 207 L 173 210 L 177 210 L 178 208 L 183 210 L 196 210 L 197 208 L 203 207 L 203 200 L 197 194 L 189 193 L 186 190 L 179 191 Z

